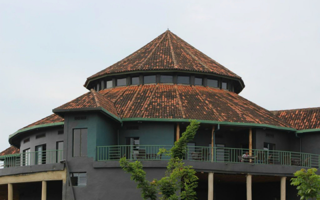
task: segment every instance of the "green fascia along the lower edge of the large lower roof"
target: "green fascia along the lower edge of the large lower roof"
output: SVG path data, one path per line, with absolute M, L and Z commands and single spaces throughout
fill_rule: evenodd
M 233 125 L 233 126 L 248 126 L 248 127 L 265 127 L 265 128 L 272 128 L 278 130 L 286 130 L 295 132 L 295 128 L 290 127 L 282 127 L 276 125 L 269 125 L 269 124 L 260 124 L 260 123 L 245 123 L 245 122 L 229 122 L 229 121 L 212 121 L 212 120 L 199 120 L 200 123 L 207 123 L 207 124 L 220 124 L 220 125 Z M 122 118 L 122 121 L 165 121 L 165 122 L 189 122 L 189 119 L 185 118 Z

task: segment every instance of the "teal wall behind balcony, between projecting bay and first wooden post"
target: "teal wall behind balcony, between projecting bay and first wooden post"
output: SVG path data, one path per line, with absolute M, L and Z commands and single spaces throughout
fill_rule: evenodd
M 127 126 L 138 126 L 138 130 L 129 130 Z M 123 123 L 119 129 L 120 145 L 125 145 L 125 137 L 139 137 L 140 145 L 173 145 L 174 123 Z

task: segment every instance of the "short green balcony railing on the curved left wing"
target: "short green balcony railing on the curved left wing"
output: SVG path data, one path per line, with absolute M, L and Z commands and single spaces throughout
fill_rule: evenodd
M 23 152 L 0 156 L 0 168 L 57 163 L 63 159 L 63 150 Z

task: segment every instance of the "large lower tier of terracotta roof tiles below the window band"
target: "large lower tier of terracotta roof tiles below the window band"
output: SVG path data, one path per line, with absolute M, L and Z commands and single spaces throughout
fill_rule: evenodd
M 292 127 L 240 95 L 217 88 L 150 84 L 100 91 L 121 118 L 192 118 Z

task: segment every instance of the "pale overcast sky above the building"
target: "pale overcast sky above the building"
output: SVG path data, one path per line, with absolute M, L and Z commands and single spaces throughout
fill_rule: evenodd
M 269 109 L 320 106 L 319 0 L 0 0 L 0 151 L 167 28 Z

